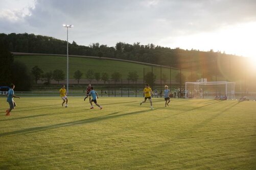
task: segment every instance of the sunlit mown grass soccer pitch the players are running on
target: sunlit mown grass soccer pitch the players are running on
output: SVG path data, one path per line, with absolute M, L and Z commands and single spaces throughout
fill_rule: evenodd
M 0 169 L 256 169 L 256 102 L 0 98 Z

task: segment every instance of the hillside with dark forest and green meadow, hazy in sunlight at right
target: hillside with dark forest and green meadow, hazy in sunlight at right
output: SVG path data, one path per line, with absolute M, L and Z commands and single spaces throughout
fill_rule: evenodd
M 66 54 L 66 41 L 58 40 L 53 37 L 40 36 L 34 34 L 0 34 L 0 40 L 9 47 L 9 51 L 13 52 L 29 52 L 29 53 L 44 53 L 44 54 Z M 83 56 L 98 56 L 99 58 L 124 59 L 129 61 L 144 62 L 147 64 L 156 64 L 162 66 L 162 73 L 165 74 L 165 79 L 177 83 L 175 76 L 181 70 L 182 74 L 187 77 L 188 81 L 195 81 L 197 78 L 207 78 L 208 81 L 236 81 L 239 83 L 240 89 L 252 89 L 254 87 L 253 64 L 246 58 L 237 55 L 221 53 L 219 51 L 199 51 L 195 49 L 184 50 L 180 48 L 171 49 L 169 47 L 161 47 L 154 44 L 141 45 L 139 42 L 127 44 L 118 42 L 115 47 L 100 45 L 93 43 L 90 46 L 78 45 L 76 42 L 69 43 L 69 55 Z M 26 56 L 15 56 L 16 60 L 24 60 L 29 69 L 38 65 L 44 72 L 54 70 L 55 68 L 62 69 L 65 72 L 66 61 L 53 56 L 44 56 L 40 59 L 29 59 Z M 130 62 L 127 64 L 102 60 L 91 61 L 73 58 L 70 60 L 69 77 L 73 78 L 74 71 L 79 69 L 83 73 L 88 69 L 93 69 L 95 72 L 108 72 L 111 74 L 114 71 L 122 73 L 122 78 L 126 79 L 129 71 L 137 71 L 139 79 L 143 79 L 144 74 L 153 72 L 156 78 L 160 79 L 160 67 L 148 65 L 133 65 Z M 106 65 L 101 65 L 104 63 Z M 42 65 L 42 66 L 40 66 Z M 172 67 L 176 69 L 165 69 Z M 145 69 L 143 69 L 145 68 Z M 187 70 L 187 71 L 184 71 Z M 255 69 L 254 69 L 255 70 Z M 170 76 L 170 72 L 172 72 Z M 83 75 L 83 78 L 85 75 Z M 163 75 L 162 75 L 163 78 Z M 169 80 L 168 80 L 169 79 Z M 184 78 L 186 79 L 186 78 Z M 182 81 L 184 82 L 184 81 Z

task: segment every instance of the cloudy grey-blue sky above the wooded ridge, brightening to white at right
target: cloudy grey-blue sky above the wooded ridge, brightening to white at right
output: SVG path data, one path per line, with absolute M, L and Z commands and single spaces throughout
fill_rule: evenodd
M 0 0 L 0 33 L 78 45 L 153 43 L 221 51 L 256 62 L 255 0 Z

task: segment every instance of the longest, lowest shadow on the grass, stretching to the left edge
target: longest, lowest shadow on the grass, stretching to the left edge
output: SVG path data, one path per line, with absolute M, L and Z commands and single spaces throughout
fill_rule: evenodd
M 83 119 L 83 120 L 78 120 L 78 121 L 73 121 L 73 122 L 65 122 L 65 123 L 60 123 L 60 124 L 55 124 L 55 125 L 33 127 L 33 128 L 23 129 L 23 130 L 16 130 L 16 131 L 12 131 L 12 132 L 1 133 L 0 137 L 7 136 L 7 135 L 13 135 L 13 134 L 34 133 L 34 132 L 39 132 L 39 131 L 44 131 L 44 130 L 66 127 L 66 126 L 82 125 L 82 124 L 87 124 L 87 123 L 103 121 L 103 120 L 107 120 L 107 119 L 115 119 L 115 118 L 119 118 L 119 117 L 123 117 L 123 116 L 142 114 L 142 113 L 148 112 L 150 110 L 134 111 L 134 112 L 129 112 L 127 114 L 121 114 L 121 115 L 117 115 L 119 112 L 121 112 L 121 111 L 117 111 L 117 112 L 114 112 L 109 115 L 99 116 L 99 117 L 95 117 L 95 118 L 89 118 L 89 119 Z

